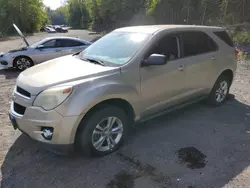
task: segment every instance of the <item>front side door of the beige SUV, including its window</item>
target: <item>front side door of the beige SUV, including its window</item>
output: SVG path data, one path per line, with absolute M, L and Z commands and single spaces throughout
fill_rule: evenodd
M 168 62 L 165 65 L 140 68 L 142 117 L 181 103 L 187 92 L 186 72 L 183 68 L 185 60 L 180 58 L 179 36 L 161 37 L 146 58 L 151 54 L 163 54 Z

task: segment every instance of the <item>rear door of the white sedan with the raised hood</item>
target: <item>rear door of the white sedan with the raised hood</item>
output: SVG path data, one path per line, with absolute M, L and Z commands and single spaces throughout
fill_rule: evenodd
M 60 39 L 60 43 L 63 47 L 61 51 L 62 56 L 82 51 L 87 47 L 85 43 L 73 39 Z

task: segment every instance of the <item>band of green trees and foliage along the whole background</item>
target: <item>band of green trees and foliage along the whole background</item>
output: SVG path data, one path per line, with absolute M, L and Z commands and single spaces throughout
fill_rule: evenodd
M 95 31 L 145 24 L 227 26 L 250 22 L 249 12 L 249 0 L 64 0 L 57 10 L 44 7 L 42 0 L 0 0 L 0 32 L 13 32 L 13 22 L 34 32 L 49 20 Z

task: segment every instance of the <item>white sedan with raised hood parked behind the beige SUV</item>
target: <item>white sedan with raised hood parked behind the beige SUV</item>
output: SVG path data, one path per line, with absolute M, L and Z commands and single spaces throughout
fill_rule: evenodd
M 74 37 L 50 37 L 30 45 L 18 27 L 15 28 L 26 47 L 0 53 L 1 68 L 13 67 L 23 71 L 44 61 L 80 52 L 91 44 Z

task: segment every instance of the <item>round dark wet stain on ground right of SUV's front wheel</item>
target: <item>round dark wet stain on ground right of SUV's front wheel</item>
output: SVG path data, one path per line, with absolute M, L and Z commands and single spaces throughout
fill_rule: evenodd
M 181 162 L 187 164 L 188 168 L 200 169 L 206 166 L 206 155 L 194 147 L 187 147 L 178 150 L 178 157 Z

